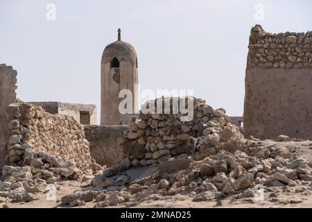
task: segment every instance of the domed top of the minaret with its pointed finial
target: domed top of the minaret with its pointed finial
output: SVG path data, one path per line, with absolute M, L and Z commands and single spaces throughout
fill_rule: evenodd
M 119 61 L 136 62 L 137 52 L 128 42 L 121 41 L 121 30 L 118 29 L 118 40 L 107 45 L 103 51 L 102 62 L 109 62 L 116 57 Z

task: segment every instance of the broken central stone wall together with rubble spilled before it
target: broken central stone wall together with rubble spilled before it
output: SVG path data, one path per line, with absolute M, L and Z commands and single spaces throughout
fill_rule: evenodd
M 198 109 L 202 111 L 198 112 Z M 202 120 L 204 113 L 211 114 L 205 121 Z M 214 113 L 225 121 L 209 123 L 216 118 Z M 133 138 L 133 150 L 125 152 L 121 162 L 94 175 L 93 186 L 89 187 L 98 192 L 94 207 L 127 205 L 127 202 L 137 203 L 148 198 L 157 199 L 157 196 L 178 195 L 189 196 L 195 202 L 215 200 L 219 203 L 220 198 L 233 196 L 246 203 L 254 203 L 252 198 L 257 186 L 263 189 L 295 187 L 312 178 L 306 161 L 296 155 L 288 155 L 286 148 L 271 147 L 264 152 L 257 151 L 257 148 L 253 150 L 254 140 L 241 137 L 236 126 L 226 120 L 225 110 L 216 112 L 204 101 L 196 99 L 191 123 L 181 122 L 178 118 L 170 120 L 171 115 L 140 115 L 142 119 L 130 124 L 129 130 L 138 135 L 130 137 Z M 167 128 L 164 132 L 168 130 L 169 133 L 161 135 L 162 128 Z M 201 133 L 194 128 L 200 128 Z M 153 135 L 150 134 L 152 131 Z M 124 135 L 127 139 L 129 132 Z M 185 135 L 177 137 L 181 134 L 187 134 L 188 138 Z M 149 141 L 148 148 L 146 144 L 141 145 L 142 141 Z M 173 145 L 168 148 L 168 144 Z M 144 150 L 144 155 L 139 155 L 138 146 L 142 146 L 139 151 Z M 183 152 L 171 153 L 176 146 L 183 146 Z M 161 159 L 158 155 L 154 158 L 150 148 L 153 153 L 169 151 L 170 154 L 167 158 Z M 147 157 L 148 153 L 150 157 Z M 133 160 L 139 164 L 132 164 Z M 150 160 L 154 160 L 153 163 L 146 164 Z

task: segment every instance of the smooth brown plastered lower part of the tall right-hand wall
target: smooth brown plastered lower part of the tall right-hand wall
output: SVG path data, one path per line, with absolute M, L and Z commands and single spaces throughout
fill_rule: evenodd
M 246 69 L 244 133 L 312 139 L 312 69 Z

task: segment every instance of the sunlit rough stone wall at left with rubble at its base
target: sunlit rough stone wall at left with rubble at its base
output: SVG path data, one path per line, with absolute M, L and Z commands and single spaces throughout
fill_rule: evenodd
M 89 153 L 83 126 L 72 117 L 22 102 L 10 104 L 8 114 L 8 164 L 1 172 L 1 202 L 28 202 L 49 184 L 83 180 L 103 169 Z

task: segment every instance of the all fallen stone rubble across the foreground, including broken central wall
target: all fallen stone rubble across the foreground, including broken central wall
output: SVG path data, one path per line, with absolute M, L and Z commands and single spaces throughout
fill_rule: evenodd
M 123 135 L 125 144 L 131 142 L 132 146 L 125 147 L 123 160 L 107 169 L 92 161 L 77 164 L 74 157 L 52 155 L 29 141 L 24 143 L 24 137 L 10 137 L 12 146 L 22 144 L 23 153 L 15 166 L 3 167 L 0 202 L 35 200 L 47 185 L 68 179 L 79 180 L 82 187 L 60 199 L 61 205 L 69 207 L 87 203 L 130 206 L 161 196 L 216 203 L 232 196 L 254 203 L 257 186 L 272 191 L 270 200 L 283 203 L 275 188 L 291 191 L 311 185 L 312 171 L 306 160 L 283 146 L 258 149 L 256 144 L 261 141 L 244 139 L 225 110 L 214 110 L 205 101 L 194 99 L 193 119 L 184 122 L 180 117 L 140 114 Z M 284 136 L 279 140 L 289 142 Z M 87 165 L 92 173 L 85 174 Z

